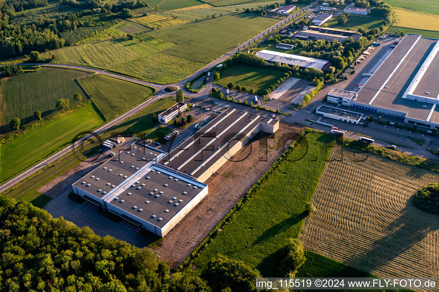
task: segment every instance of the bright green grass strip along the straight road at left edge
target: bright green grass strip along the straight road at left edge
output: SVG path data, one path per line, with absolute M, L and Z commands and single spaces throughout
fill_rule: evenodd
M 89 104 L 1 145 L 0 182 L 103 122 L 104 119 L 96 107 Z

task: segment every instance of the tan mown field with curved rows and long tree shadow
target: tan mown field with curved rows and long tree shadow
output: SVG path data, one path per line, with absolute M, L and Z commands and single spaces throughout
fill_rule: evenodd
M 304 247 L 381 277 L 437 277 L 439 216 L 415 208 L 411 196 L 439 176 L 373 155 L 354 162 L 344 153 L 320 177 L 317 211 L 300 235 Z

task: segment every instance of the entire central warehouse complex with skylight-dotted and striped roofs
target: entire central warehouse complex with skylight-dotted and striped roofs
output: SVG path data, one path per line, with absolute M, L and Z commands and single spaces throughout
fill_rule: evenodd
M 278 128 L 278 120 L 229 108 L 169 154 L 130 145 L 73 183 L 73 192 L 163 237 L 208 194 L 205 180 L 259 131 Z

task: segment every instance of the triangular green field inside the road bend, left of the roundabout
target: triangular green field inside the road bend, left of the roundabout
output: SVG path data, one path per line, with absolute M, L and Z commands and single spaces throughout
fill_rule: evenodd
M 77 80 L 106 120 L 112 120 L 152 95 L 149 87 L 101 74 Z

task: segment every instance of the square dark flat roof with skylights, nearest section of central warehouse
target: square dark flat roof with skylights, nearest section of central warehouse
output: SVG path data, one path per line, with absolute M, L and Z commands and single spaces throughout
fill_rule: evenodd
M 204 183 L 151 165 L 106 201 L 162 228 L 205 187 Z

